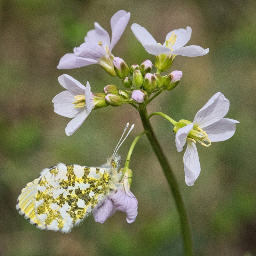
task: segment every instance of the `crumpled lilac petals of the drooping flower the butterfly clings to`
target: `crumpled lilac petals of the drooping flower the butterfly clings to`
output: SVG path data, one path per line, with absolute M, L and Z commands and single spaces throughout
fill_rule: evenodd
M 138 201 L 131 191 L 124 193 L 118 189 L 117 192 L 108 196 L 104 204 L 92 211 L 96 222 L 103 223 L 111 217 L 116 210 L 126 212 L 126 221 L 132 223 L 138 215 Z

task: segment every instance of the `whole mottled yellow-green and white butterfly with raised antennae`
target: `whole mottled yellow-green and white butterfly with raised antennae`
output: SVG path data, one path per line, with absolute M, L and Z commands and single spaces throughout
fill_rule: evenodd
M 129 123 L 106 164 L 87 167 L 59 163 L 44 169 L 37 179 L 21 190 L 16 204 L 19 213 L 36 228 L 70 232 L 124 186 L 120 183 L 123 173 L 118 172 L 121 156 L 117 155 L 117 150 L 134 124 L 120 143 L 128 126 Z

